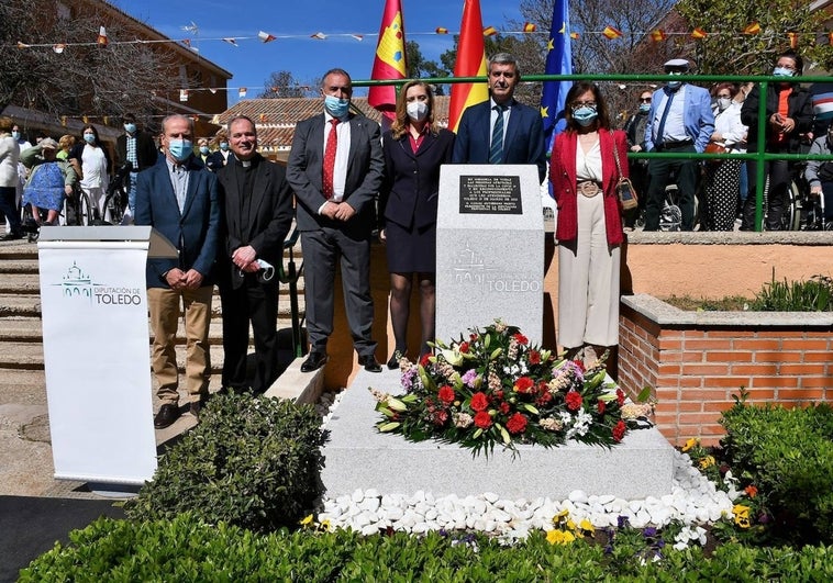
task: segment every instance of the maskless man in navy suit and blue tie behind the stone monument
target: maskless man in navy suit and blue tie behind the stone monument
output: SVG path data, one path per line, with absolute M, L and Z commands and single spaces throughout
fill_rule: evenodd
M 489 59 L 489 100 L 463 112 L 454 143 L 455 164 L 534 164 L 546 177 L 546 146 L 541 113 L 513 98 L 521 80 L 508 53 Z

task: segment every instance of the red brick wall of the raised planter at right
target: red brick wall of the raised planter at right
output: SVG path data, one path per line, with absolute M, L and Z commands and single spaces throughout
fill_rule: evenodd
M 631 397 L 653 388 L 657 427 L 673 445 L 717 445 L 721 412 L 742 386 L 749 403 L 833 401 L 833 328 L 801 328 L 660 325 L 623 303 L 618 381 Z

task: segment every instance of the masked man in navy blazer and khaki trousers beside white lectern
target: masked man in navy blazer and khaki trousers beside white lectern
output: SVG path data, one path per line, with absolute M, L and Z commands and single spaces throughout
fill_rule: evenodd
M 209 324 L 212 271 L 220 234 L 216 177 L 193 159 L 193 121 L 168 115 L 162 123 L 165 160 L 136 179 L 136 225 L 151 225 L 179 251 L 175 259 L 147 260 L 147 305 L 153 329 L 153 371 L 162 401 L 154 426 L 179 417 L 175 351 L 180 301 L 185 306 L 186 385 L 198 415 L 211 374 Z

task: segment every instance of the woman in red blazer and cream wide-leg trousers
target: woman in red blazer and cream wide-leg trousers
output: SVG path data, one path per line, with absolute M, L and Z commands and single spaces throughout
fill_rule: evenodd
M 615 186 L 619 152 L 627 176 L 627 139 L 611 131 L 601 91 L 577 82 L 567 93 L 567 128 L 553 146 L 549 179 L 557 213 L 558 340 L 569 356 L 619 343 L 620 247 L 624 240 Z

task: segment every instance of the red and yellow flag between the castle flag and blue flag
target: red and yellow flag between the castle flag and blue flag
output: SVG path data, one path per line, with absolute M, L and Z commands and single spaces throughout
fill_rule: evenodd
M 480 0 L 464 0 L 463 22 L 457 42 L 455 77 L 485 77 L 486 47 L 484 43 L 484 19 L 480 15 Z M 486 83 L 454 83 L 448 105 L 448 128 L 457 131 L 463 111 L 469 105 L 489 99 Z

